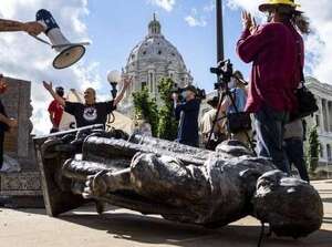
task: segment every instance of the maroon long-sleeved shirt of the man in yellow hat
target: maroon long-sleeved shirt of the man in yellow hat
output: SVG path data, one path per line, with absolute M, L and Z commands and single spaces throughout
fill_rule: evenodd
M 301 81 L 304 44 L 291 24 L 268 23 L 255 34 L 243 31 L 237 52 L 243 62 L 252 62 L 247 112 L 257 112 L 263 104 L 276 111 L 297 109 L 294 91 Z

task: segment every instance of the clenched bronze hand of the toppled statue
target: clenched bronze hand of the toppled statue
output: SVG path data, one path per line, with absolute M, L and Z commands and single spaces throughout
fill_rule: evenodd
M 102 171 L 97 173 L 96 175 L 89 176 L 85 183 L 85 188 L 83 192 L 84 198 L 91 198 L 91 197 L 100 197 L 106 194 L 107 192 L 107 184 L 104 179 L 104 175 L 108 171 Z

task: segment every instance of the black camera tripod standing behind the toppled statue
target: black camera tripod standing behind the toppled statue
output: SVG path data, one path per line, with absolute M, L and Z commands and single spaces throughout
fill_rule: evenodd
M 208 148 L 208 147 L 210 146 L 210 143 L 211 143 L 211 138 L 212 138 L 212 135 L 214 135 L 214 131 L 215 131 L 216 124 L 217 124 L 220 120 L 222 120 L 222 119 L 227 119 L 227 120 L 228 120 L 228 115 L 227 115 L 227 114 L 226 114 L 226 116 L 219 117 L 219 113 L 221 112 L 221 104 L 222 104 L 224 100 L 225 100 L 226 97 L 230 99 L 230 106 L 232 106 L 232 107 L 235 109 L 235 113 L 236 113 L 236 114 L 240 113 L 240 112 L 239 112 L 239 109 L 238 109 L 238 106 L 237 106 L 237 104 L 236 104 L 236 102 L 235 102 L 232 92 L 230 91 L 230 89 L 229 89 L 229 86 L 228 86 L 228 83 L 229 83 L 229 81 L 230 81 L 230 78 L 229 78 L 229 80 L 222 79 L 222 78 L 221 78 L 221 74 L 218 74 L 218 80 L 221 81 L 221 83 L 219 82 L 219 83 L 216 84 L 216 85 L 218 85 L 218 86 L 216 86 L 216 90 L 218 90 L 218 102 L 219 102 L 219 104 L 218 104 L 218 109 L 217 109 L 216 116 L 215 116 L 215 119 L 214 119 L 214 121 L 212 121 L 212 127 L 211 127 L 210 133 L 209 133 L 208 142 L 207 142 L 207 144 L 206 144 L 206 148 Z M 246 134 L 246 137 L 247 137 L 247 140 L 248 140 L 248 143 L 249 143 L 249 145 L 250 145 L 250 148 L 251 148 L 252 152 L 256 154 L 255 145 L 253 145 L 253 143 L 252 143 L 252 141 L 251 141 L 251 138 L 250 138 L 248 132 L 245 131 L 245 134 Z

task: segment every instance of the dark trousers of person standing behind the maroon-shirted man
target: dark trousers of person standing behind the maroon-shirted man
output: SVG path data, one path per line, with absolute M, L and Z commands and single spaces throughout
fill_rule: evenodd
M 284 140 L 284 144 L 290 165 L 294 165 L 297 167 L 301 179 L 309 182 L 304 161 L 303 141 L 301 138 L 287 138 Z

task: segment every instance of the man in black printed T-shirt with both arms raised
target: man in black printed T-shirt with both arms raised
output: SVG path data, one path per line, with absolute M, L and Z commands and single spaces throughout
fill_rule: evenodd
M 64 111 L 75 117 L 76 126 L 84 127 L 94 124 L 103 124 L 105 127 L 106 119 L 112 113 L 116 105 L 122 101 L 127 88 L 131 85 L 132 79 L 124 79 L 123 89 L 117 96 L 112 101 L 96 102 L 95 90 L 89 88 L 84 92 L 84 103 L 69 102 L 58 95 L 52 86 L 52 82 L 43 82 L 44 88 L 50 94 L 64 107 Z

